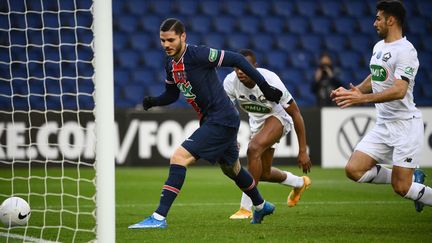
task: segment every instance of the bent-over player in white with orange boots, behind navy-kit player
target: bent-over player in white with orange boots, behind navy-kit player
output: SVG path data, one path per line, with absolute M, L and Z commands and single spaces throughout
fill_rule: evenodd
M 255 67 L 256 56 L 251 50 L 241 50 L 240 54 Z M 312 163 L 306 151 L 306 135 L 303 117 L 291 94 L 280 78 L 264 68 L 257 68 L 265 80 L 283 92 L 279 103 L 267 101 L 255 82 L 240 69 L 228 74 L 224 80 L 224 88 L 228 97 L 249 114 L 251 140 L 247 149 L 248 170 L 255 181 L 268 181 L 293 187 L 288 196 L 288 206 L 297 204 L 303 191 L 309 187 L 311 180 L 307 176 L 295 176 L 288 171 L 272 167 L 273 145 L 277 144 L 294 125 L 299 142 L 298 164 L 304 173 L 310 172 Z M 252 202 L 243 193 L 240 210 L 231 215 L 230 219 L 251 217 Z

